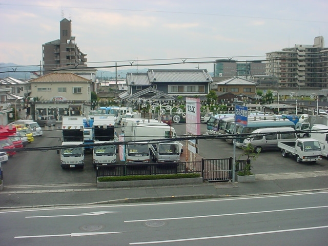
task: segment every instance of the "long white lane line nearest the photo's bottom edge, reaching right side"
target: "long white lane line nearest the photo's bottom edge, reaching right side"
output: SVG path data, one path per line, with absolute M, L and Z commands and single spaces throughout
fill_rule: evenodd
M 183 239 L 162 240 L 162 241 L 130 242 L 129 244 L 130 245 L 141 245 L 141 244 L 156 244 L 156 243 L 168 243 L 168 242 L 183 242 L 183 241 L 195 241 L 195 240 L 205 240 L 205 239 L 218 239 L 218 238 L 228 238 L 228 237 L 254 236 L 254 235 L 281 233 L 281 232 L 296 232 L 296 231 L 316 230 L 316 229 L 324 229 L 324 228 L 328 228 L 328 226 L 308 227 L 308 228 L 294 228 L 294 229 L 277 230 L 277 231 L 267 231 L 267 232 L 252 232 L 252 233 L 233 234 L 233 235 L 222 235 L 222 236 L 213 236 L 213 237 L 194 237 L 194 238 L 183 238 Z

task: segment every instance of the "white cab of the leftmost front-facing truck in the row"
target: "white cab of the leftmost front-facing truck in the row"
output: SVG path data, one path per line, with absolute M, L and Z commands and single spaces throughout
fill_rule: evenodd
M 66 168 L 84 168 L 84 148 L 81 141 L 62 142 L 63 149 L 60 154 L 60 166 Z

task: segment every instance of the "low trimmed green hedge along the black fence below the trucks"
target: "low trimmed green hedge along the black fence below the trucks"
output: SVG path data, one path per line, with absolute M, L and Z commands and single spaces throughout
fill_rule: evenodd
M 176 178 L 199 178 L 199 177 L 200 177 L 199 173 L 113 176 L 113 177 L 98 177 L 98 182 L 131 181 L 131 180 L 154 180 L 154 179 L 176 179 Z

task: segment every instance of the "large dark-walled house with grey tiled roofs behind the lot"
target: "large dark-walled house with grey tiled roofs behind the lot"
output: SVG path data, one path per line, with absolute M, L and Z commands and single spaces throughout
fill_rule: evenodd
M 157 101 L 175 101 L 198 97 L 205 101 L 212 77 L 202 69 L 149 69 L 147 73 L 128 73 L 128 91 L 119 95 L 123 100 L 146 98 Z

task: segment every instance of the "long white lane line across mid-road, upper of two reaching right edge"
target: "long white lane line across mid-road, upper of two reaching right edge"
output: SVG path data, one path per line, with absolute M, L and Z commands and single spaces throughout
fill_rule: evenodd
M 232 213 L 232 214 L 213 214 L 213 215 L 190 216 L 190 217 L 175 217 L 175 218 L 156 218 L 156 219 L 125 220 L 124 222 L 144 222 L 144 221 L 152 221 L 152 220 L 195 219 L 195 218 L 209 218 L 209 217 L 232 216 L 232 215 L 244 215 L 244 214 L 274 213 L 274 212 L 285 212 L 285 211 L 305 210 L 305 209 L 322 209 L 322 208 L 328 208 L 328 206 L 305 207 L 305 208 L 293 208 L 293 209 L 278 209 L 278 210 L 255 211 L 255 212 Z

